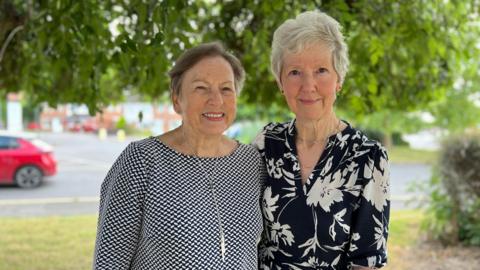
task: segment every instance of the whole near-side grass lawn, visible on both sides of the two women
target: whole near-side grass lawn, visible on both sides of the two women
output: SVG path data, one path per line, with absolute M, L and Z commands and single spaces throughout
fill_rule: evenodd
M 402 265 L 405 248 L 419 235 L 422 214 L 416 210 L 391 214 L 388 270 Z M 96 216 L 1 218 L 0 269 L 91 269 Z

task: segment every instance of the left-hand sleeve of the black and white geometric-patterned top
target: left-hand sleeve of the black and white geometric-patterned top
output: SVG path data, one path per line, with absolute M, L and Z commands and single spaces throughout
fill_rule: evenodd
M 102 183 L 93 269 L 129 269 L 139 241 L 145 191 L 144 159 L 131 143 Z

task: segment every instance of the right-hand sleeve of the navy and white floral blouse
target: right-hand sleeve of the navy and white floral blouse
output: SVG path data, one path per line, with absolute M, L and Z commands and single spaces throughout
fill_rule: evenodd
M 390 177 L 385 149 L 375 144 L 360 166 L 362 193 L 352 216 L 352 237 L 347 252 L 350 266 L 381 268 L 387 264 L 390 216 Z M 363 167 L 363 168 L 362 168 Z M 362 172 L 363 170 L 363 172 Z

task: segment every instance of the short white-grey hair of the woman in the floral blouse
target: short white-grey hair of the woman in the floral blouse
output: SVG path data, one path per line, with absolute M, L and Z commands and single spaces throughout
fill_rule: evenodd
M 321 43 L 332 52 L 333 67 L 343 84 L 348 71 L 348 47 L 342 26 L 334 18 L 321 11 L 306 11 L 295 19 L 288 19 L 273 33 L 271 69 L 280 82 L 283 59 L 286 53 L 298 53 L 306 46 Z

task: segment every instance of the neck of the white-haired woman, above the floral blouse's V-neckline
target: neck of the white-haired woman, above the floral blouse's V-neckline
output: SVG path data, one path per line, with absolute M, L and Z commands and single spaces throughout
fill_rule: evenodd
M 297 139 L 304 142 L 321 142 L 340 129 L 341 121 L 335 114 L 315 120 L 297 119 Z

